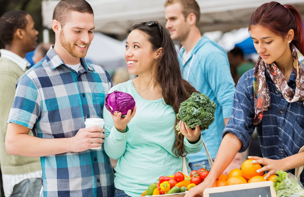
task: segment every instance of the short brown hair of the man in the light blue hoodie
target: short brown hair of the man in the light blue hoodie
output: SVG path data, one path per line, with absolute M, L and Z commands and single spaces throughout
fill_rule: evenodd
M 189 16 L 190 13 L 194 13 L 196 16 L 195 25 L 198 27 L 201 17 L 200 6 L 195 0 L 166 0 L 165 7 L 175 3 L 180 3 L 182 6 L 182 13 L 185 19 Z

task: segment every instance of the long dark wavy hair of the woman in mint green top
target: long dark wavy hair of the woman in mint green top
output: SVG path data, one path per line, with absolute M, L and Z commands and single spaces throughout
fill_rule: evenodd
M 198 92 L 186 80 L 183 80 L 176 48 L 169 34 L 158 23 L 146 26 L 145 22 L 141 22 L 132 26 L 132 31 L 137 29 L 144 32 L 148 41 L 152 45 L 152 50 L 156 51 L 163 48 L 162 54 L 158 59 L 158 63 L 154 73 L 154 83 L 159 84 L 162 91 L 162 97 L 166 104 L 173 107 L 175 113 L 178 113 L 181 102 L 188 99 L 193 92 Z M 175 120 L 175 155 L 177 157 L 183 156 L 184 151 L 184 136 L 178 135 L 175 126 L 179 122 Z

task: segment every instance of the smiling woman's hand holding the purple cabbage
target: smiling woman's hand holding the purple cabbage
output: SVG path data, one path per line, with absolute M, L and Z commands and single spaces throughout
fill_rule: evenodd
M 114 126 L 115 128 L 122 133 L 125 133 L 127 131 L 127 124 L 131 121 L 131 119 L 134 117 L 136 112 L 136 106 L 133 108 L 133 111 L 131 109 L 128 110 L 127 115 L 122 117 L 121 112 L 117 114 L 117 116 L 112 115 Z

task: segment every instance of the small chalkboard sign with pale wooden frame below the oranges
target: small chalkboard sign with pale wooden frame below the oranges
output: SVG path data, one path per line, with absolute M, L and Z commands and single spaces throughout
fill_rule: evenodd
M 208 188 L 204 197 L 277 197 L 272 181 Z

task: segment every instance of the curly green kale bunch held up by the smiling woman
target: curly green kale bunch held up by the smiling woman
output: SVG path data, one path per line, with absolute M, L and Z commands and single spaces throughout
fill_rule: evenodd
M 181 103 L 177 119 L 182 120 L 189 128 L 195 129 L 200 125 L 203 131 L 214 121 L 216 104 L 205 94 L 192 93 L 191 97 Z M 178 124 L 176 130 L 179 131 Z

